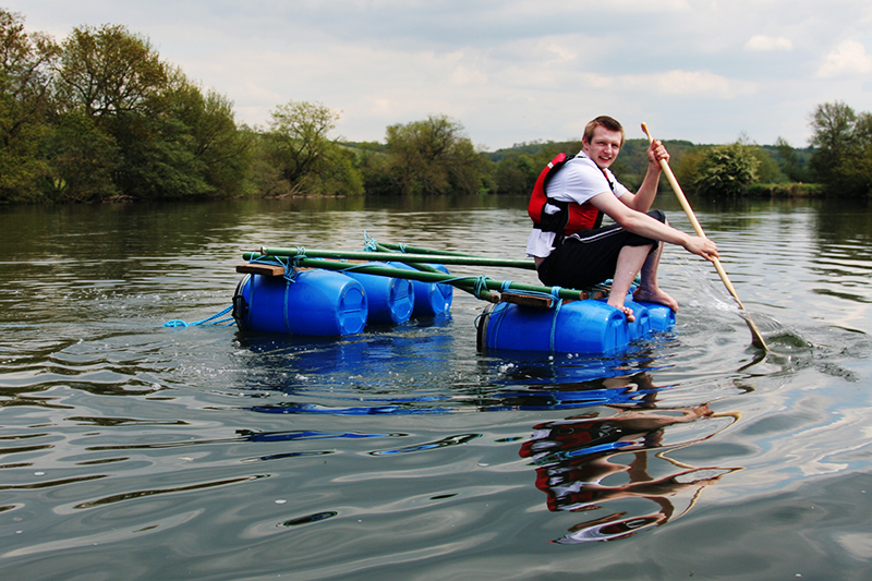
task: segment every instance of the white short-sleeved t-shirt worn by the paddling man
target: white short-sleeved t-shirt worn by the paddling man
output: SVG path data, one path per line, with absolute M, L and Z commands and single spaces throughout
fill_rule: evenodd
M 608 175 L 608 181 L 606 181 L 606 175 Z M 611 186 L 608 182 L 611 182 Z M 618 182 L 610 170 L 605 170 L 604 174 L 603 170 L 583 153 L 567 161 L 548 183 L 548 197 L 558 202 L 584 204 L 593 196 L 604 192 L 614 192 L 617 197 L 620 197 L 629 190 Z M 546 204 L 544 208 L 547 214 L 555 214 L 558 210 L 557 206 L 550 204 Z M 548 256 L 554 247 L 556 237 L 556 232 L 543 232 L 538 228 L 533 228 L 526 241 L 526 255 L 543 258 Z

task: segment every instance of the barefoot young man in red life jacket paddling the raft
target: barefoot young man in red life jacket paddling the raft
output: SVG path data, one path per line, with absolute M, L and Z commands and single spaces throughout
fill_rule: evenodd
M 581 144 L 581 152 L 559 171 L 543 170 L 538 192 L 531 198 L 534 226 L 526 253 L 535 258 L 540 280 L 549 287 L 586 289 L 610 278 L 608 304 L 633 322 L 633 312 L 623 300 L 641 273 L 633 299 L 678 311 L 678 302 L 657 286 L 663 254 L 658 242 L 678 244 L 707 261 L 717 257 L 717 246 L 670 227 L 661 210 L 650 211 L 657 195 L 659 160 L 668 161 L 669 154 L 662 142 L 651 144 L 645 179 L 633 194 L 608 169 L 623 145 L 620 123 L 597 117 L 588 123 Z M 603 214 L 616 223 L 601 228 Z

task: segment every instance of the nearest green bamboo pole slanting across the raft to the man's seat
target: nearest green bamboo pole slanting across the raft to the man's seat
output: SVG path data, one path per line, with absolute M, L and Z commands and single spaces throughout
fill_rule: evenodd
M 308 253 L 308 251 L 306 251 L 306 253 Z M 363 253 L 363 254 L 376 254 L 376 253 Z M 275 254 L 271 253 L 270 255 L 275 256 Z M 246 261 L 253 261 L 257 258 L 265 258 L 268 256 L 263 256 L 258 253 L 245 253 L 243 257 Z M 361 273 L 364 275 L 378 275 L 383 277 L 404 278 L 409 280 L 420 280 L 422 282 L 437 282 L 444 285 L 451 285 L 452 287 L 458 287 L 461 290 L 467 290 L 476 287 L 480 280 L 484 288 L 495 291 L 514 290 L 514 291 L 536 292 L 541 294 L 553 295 L 555 290 L 555 288 L 553 287 L 541 287 L 537 285 L 524 285 L 520 282 L 508 282 L 507 285 L 506 281 L 495 280 L 492 278 L 485 278 L 482 280 L 480 279 L 480 277 L 446 275 L 445 273 L 423 273 L 421 270 L 407 270 L 404 268 L 393 268 L 390 266 L 382 266 L 382 265 L 356 265 L 349 263 L 336 263 L 331 261 L 325 261 L 322 258 L 312 258 L 312 257 L 294 258 L 294 265 L 308 268 L 323 268 L 325 270 L 337 270 L 337 271 L 354 270 L 355 273 Z M 574 289 L 560 288 L 557 290 L 557 295 L 560 299 L 573 299 L 573 300 L 584 299 L 583 292 Z

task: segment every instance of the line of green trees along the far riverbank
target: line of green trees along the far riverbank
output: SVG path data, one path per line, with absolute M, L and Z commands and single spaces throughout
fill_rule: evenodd
M 386 129 L 384 143 L 331 137 L 339 113 L 289 101 L 265 128 L 164 62 L 123 26 L 74 28 L 60 44 L 0 9 L 0 203 L 286 195 L 528 194 L 542 168 L 580 142 L 479 152 L 434 114 Z M 869 195 L 872 121 L 844 104 L 813 113 L 813 148 L 666 142 L 701 195 Z M 644 140 L 614 166 L 628 186 L 647 168 Z M 821 185 L 807 185 L 818 183 Z

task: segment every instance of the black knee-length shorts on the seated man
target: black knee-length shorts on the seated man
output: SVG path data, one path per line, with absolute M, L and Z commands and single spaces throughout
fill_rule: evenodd
M 647 213 L 666 223 L 666 215 Z M 588 289 L 615 277 L 618 254 L 623 246 L 657 247 L 657 241 L 628 232 L 618 225 L 581 230 L 564 239 L 538 267 L 538 279 L 548 287 Z

